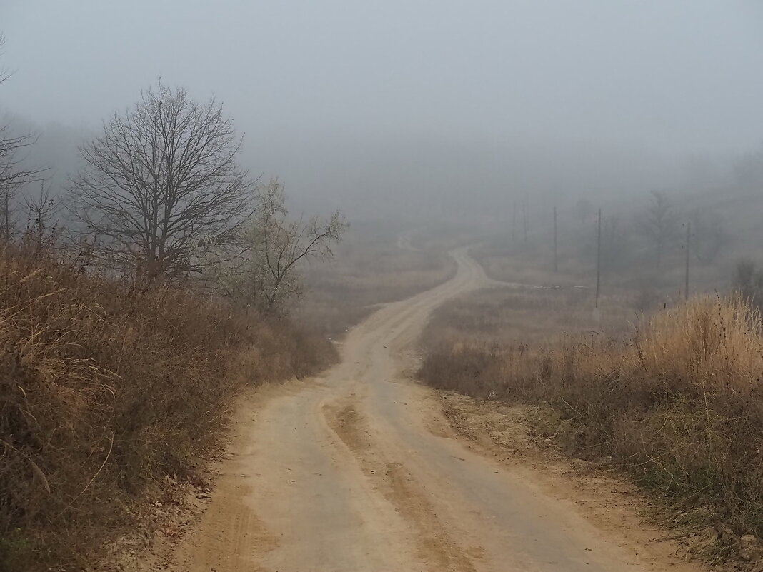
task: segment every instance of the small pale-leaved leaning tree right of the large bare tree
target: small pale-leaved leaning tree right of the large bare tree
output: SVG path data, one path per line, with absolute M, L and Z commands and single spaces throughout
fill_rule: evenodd
M 214 268 L 214 281 L 245 306 L 280 311 L 303 293 L 300 265 L 331 258 L 332 244 L 347 228 L 339 211 L 326 219 L 289 220 L 283 185 L 272 180 L 259 187 L 256 215 L 244 234 L 246 253 L 237 263 Z

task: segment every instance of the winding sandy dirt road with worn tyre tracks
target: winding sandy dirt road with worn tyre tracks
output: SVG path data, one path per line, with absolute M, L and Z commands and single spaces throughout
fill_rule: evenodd
M 353 329 L 323 378 L 241 407 L 181 570 L 694 570 L 649 532 L 587 518 L 537 471 L 476 452 L 444 421 L 442 397 L 407 381 L 433 308 L 490 282 L 454 256 L 454 278 Z

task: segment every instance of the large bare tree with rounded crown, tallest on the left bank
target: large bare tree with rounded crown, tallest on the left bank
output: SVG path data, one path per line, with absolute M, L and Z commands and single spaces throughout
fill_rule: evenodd
M 80 148 L 85 165 L 69 185 L 92 254 L 150 284 L 201 270 L 211 263 L 202 252 L 236 246 L 254 187 L 236 160 L 240 144 L 214 98 L 198 103 L 161 82 L 114 113 Z

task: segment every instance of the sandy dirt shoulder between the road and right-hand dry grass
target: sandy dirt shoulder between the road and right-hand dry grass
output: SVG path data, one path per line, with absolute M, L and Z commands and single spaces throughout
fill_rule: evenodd
M 664 564 L 671 570 L 721 570 L 703 559 L 716 544 L 715 529 L 683 525 L 685 515 L 639 490 L 606 460 L 566 457 L 550 436 L 533 429 L 536 410 L 443 391 L 431 399 L 448 429 L 469 448 L 533 480 L 548 496 L 572 503 L 643 561 L 658 569 Z M 443 434 L 442 425 L 430 430 Z

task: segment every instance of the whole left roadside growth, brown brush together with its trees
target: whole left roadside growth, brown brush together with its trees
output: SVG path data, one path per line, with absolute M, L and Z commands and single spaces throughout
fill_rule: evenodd
M 240 390 L 336 359 L 290 314 L 347 225 L 290 217 L 182 88 L 114 113 L 66 188 L 34 142 L 0 127 L 0 570 L 83 570 L 192 478 Z

